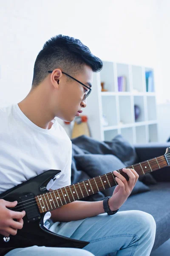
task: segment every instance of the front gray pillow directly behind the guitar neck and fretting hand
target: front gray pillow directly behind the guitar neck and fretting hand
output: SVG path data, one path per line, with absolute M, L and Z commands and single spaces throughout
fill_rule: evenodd
M 119 158 L 112 154 L 79 154 L 74 156 L 82 171 L 87 173 L 91 178 L 113 172 L 125 167 Z M 103 190 L 105 196 L 112 196 L 114 187 Z M 131 195 L 150 190 L 148 186 L 140 182 L 136 183 Z

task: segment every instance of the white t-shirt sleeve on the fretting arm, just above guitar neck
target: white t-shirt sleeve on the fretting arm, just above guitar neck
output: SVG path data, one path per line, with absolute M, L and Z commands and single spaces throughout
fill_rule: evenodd
M 65 165 L 65 168 L 63 169 L 60 177 L 55 180 L 50 189 L 60 189 L 62 187 L 71 185 L 72 144 L 70 145 L 71 146 L 68 153 L 68 161 Z

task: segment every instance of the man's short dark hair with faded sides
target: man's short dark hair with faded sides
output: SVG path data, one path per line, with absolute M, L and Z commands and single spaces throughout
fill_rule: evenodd
M 98 72 L 103 67 L 102 60 L 94 56 L 79 39 L 65 35 L 52 37 L 37 55 L 32 87 L 36 87 L 48 76 L 48 70 L 60 68 L 63 72 L 74 75 L 81 71 L 85 64 L 90 66 L 93 72 Z

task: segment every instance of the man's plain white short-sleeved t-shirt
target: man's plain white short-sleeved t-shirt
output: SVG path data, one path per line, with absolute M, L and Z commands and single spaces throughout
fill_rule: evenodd
M 47 189 L 71 184 L 71 140 L 57 120 L 53 122 L 43 129 L 17 104 L 0 108 L 0 193 L 50 169 L 61 172 Z

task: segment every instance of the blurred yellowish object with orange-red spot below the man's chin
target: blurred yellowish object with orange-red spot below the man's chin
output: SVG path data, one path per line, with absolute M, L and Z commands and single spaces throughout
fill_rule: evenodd
M 76 116 L 74 119 L 74 127 L 72 130 L 71 138 L 74 139 L 81 135 L 86 135 L 88 137 L 91 137 L 87 116 Z

